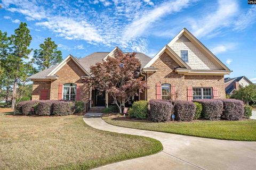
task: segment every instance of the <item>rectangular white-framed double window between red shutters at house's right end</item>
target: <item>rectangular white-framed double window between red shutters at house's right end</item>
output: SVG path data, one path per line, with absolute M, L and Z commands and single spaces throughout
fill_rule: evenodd
M 212 99 L 212 88 L 193 88 L 193 99 Z

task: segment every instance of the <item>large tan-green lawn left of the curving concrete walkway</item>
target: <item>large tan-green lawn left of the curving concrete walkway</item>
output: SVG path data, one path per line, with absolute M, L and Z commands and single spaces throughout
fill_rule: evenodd
M 81 115 L 0 113 L 0 169 L 91 169 L 161 150 L 155 139 L 93 129 Z

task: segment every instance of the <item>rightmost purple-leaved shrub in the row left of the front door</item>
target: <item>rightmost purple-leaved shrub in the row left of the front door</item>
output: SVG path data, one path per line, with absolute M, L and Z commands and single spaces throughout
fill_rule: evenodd
M 70 115 L 75 112 L 75 104 L 72 101 L 59 101 L 53 103 L 52 114 L 55 116 Z

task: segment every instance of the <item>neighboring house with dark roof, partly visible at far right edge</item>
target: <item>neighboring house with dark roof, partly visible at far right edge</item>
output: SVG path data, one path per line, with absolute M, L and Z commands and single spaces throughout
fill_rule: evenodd
M 245 87 L 249 84 L 253 84 L 249 79 L 245 76 L 237 77 L 237 78 L 225 78 L 225 91 L 226 94 L 231 95 L 235 90 L 238 90 L 239 87 Z

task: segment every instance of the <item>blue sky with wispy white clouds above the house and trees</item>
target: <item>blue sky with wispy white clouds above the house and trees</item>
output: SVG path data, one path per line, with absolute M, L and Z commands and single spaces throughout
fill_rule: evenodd
M 0 30 L 26 22 L 36 49 L 51 37 L 63 57 L 93 52 L 154 56 L 184 27 L 233 72 L 256 83 L 256 5 L 242 0 L 0 1 Z M 31 55 L 30 55 L 31 56 Z

